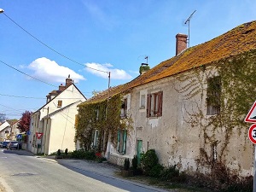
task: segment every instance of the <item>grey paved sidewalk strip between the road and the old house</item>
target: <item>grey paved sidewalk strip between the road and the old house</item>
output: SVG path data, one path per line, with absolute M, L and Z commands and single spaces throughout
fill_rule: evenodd
M 120 176 L 120 169 L 119 166 L 114 166 L 112 164 L 106 163 L 98 163 L 93 160 L 76 160 L 76 159 L 57 159 L 55 160 L 55 156 L 47 156 L 44 157 L 45 160 L 50 160 L 56 163 L 59 163 L 61 166 L 66 166 L 67 168 L 73 169 L 76 172 L 86 172 L 90 176 L 93 177 L 108 177 L 111 179 L 116 179 L 125 183 L 131 183 L 133 185 L 141 186 L 145 189 L 151 189 L 154 191 L 159 192 L 166 192 L 166 191 L 172 191 L 168 189 L 160 189 L 157 187 L 149 186 L 148 184 L 144 184 L 142 182 L 134 182 L 131 181 L 128 177 L 122 177 Z

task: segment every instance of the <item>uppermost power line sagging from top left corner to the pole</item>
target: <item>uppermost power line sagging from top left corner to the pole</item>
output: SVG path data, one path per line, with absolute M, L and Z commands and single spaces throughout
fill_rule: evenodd
M 44 44 L 44 42 L 42 42 L 41 40 L 39 40 L 38 38 L 36 38 L 35 36 L 33 36 L 32 33 L 26 31 L 25 28 L 23 28 L 22 26 L 20 26 L 17 22 L 15 22 L 15 20 L 11 19 L 11 18 L 10 18 L 8 15 L 6 15 L 4 12 L 3 12 L 3 15 L 5 15 L 9 20 L 11 20 L 13 23 L 15 23 L 16 26 L 19 26 L 20 29 L 22 29 L 24 32 L 26 32 L 28 35 L 30 35 L 32 38 L 36 39 L 40 44 L 43 44 L 45 47 L 47 47 L 48 49 L 51 49 L 51 50 L 54 51 L 56 54 L 61 55 L 62 57 L 66 58 L 67 60 L 73 61 L 74 63 L 79 64 L 80 66 L 87 67 L 87 66 L 85 66 L 84 64 L 79 63 L 78 61 L 74 61 L 73 59 L 67 57 L 66 55 L 61 54 L 59 51 L 57 51 L 57 50 L 51 48 L 48 44 Z M 92 67 L 87 67 L 87 68 L 90 68 L 90 69 L 92 69 L 92 70 L 95 70 L 95 71 L 98 71 L 98 72 L 102 72 L 102 73 L 109 73 L 109 72 L 102 71 L 102 70 L 99 70 L 99 69 L 96 69 L 96 68 L 92 68 Z

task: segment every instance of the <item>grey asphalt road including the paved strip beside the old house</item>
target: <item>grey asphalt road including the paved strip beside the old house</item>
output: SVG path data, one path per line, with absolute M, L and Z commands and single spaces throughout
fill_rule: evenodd
M 56 162 L 24 150 L 0 150 L 0 183 L 6 192 L 164 191 L 114 177 L 113 169 L 82 160 Z

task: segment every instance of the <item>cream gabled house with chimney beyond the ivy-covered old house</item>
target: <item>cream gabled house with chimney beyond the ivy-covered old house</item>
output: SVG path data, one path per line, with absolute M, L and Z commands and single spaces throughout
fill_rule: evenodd
M 77 105 L 86 98 L 69 77 L 65 85 L 46 97 L 46 104 L 32 113 L 27 148 L 34 154 L 52 154 L 66 148 L 73 151 Z

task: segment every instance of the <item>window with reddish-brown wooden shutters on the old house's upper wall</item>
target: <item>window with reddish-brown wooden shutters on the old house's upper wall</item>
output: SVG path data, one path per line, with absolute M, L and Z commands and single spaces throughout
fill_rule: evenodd
M 163 91 L 148 94 L 147 96 L 147 117 L 162 116 Z

